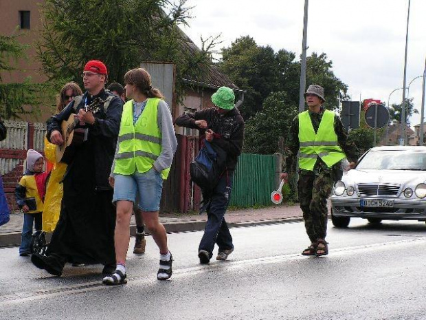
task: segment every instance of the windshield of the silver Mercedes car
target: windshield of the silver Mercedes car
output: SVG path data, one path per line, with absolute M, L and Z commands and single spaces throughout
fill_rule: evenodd
M 426 152 L 423 151 L 368 151 L 357 169 L 426 170 Z

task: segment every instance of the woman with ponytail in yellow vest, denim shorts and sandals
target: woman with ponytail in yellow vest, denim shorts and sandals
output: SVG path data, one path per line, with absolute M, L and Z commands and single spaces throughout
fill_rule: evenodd
M 117 206 L 115 222 L 115 257 L 117 268 L 104 277 L 108 285 L 126 283 L 126 253 L 130 239 L 133 204 L 142 210 L 145 224 L 159 246 L 157 279 L 172 275 L 172 255 L 167 246 L 166 229 L 159 222 L 159 204 L 163 180 L 168 177 L 177 140 L 172 115 L 158 89 L 151 85 L 150 74 L 142 68 L 124 76 L 127 98 L 123 107 L 120 132 L 110 184 Z

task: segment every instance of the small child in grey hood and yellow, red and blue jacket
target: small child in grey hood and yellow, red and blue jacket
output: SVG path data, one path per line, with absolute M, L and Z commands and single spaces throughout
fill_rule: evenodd
M 43 172 L 44 158 L 37 151 L 27 151 L 27 170 L 15 189 L 15 199 L 24 212 L 19 255 L 31 255 L 32 226 L 41 231 L 41 215 L 48 173 Z

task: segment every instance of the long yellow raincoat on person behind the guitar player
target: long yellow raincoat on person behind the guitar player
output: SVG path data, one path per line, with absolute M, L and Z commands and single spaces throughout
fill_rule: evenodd
M 56 145 L 45 139 L 45 156 L 49 162 L 54 163 L 54 169 L 50 173 L 49 182 L 47 182 L 46 196 L 43 209 L 43 231 L 52 232 L 59 220 L 60 202 L 64 194 L 63 180 L 67 164 L 56 162 Z

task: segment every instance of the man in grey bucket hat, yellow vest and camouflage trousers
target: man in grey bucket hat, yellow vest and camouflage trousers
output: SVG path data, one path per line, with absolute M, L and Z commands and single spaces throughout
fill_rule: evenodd
M 298 152 L 298 198 L 311 244 L 302 255 L 327 255 L 327 198 L 341 173 L 341 160 L 348 158 L 353 169 L 359 153 L 348 140 L 341 121 L 333 112 L 324 109 L 324 89 L 311 85 L 304 94 L 308 111 L 293 119 L 284 151 L 285 163 L 281 178 L 288 181 Z

